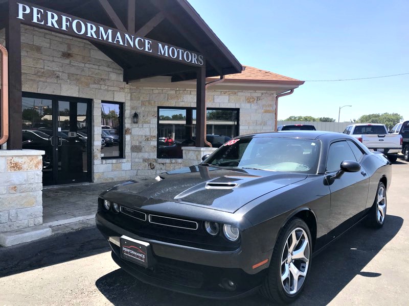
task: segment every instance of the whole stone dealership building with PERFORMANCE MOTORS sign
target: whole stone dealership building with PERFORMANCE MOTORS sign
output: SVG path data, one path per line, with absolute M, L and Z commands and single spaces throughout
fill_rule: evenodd
M 241 66 L 185 1 L 137 1 L 142 9 L 132 19 L 128 7 L 122 22 L 123 8 L 97 0 L 82 8 L 39 3 L 47 1 L 0 4 L 10 69 L 10 138 L 0 150 L 3 245 L 13 231 L 42 233 L 27 239 L 49 233 L 41 227 L 43 185 L 120 181 L 197 164 L 232 137 L 275 130 L 278 95 L 303 84 Z M 105 17 L 87 14 L 87 6 Z M 62 19 L 67 14 L 71 23 Z M 64 22 L 72 27 L 66 33 Z M 220 75 L 222 82 L 206 88 Z

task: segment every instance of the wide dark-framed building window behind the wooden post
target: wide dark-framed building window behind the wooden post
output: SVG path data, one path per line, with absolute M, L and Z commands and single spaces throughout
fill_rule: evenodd
M 157 158 L 183 158 L 182 147 L 196 145 L 196 109 L 157 109 Z M 207 141 L 213 147 L 239 135 L 238 109 L 207 110 Z

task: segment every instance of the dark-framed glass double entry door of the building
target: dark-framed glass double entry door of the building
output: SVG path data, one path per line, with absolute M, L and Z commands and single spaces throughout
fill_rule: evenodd
M 90 122 L 87 99 L 23 94 L 23 148 L 46 151 L 44 186 L 90 182 Z

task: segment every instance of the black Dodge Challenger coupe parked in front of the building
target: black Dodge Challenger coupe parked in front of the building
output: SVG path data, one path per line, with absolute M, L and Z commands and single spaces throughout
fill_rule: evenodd
M 113 260 L 154 286 L 210 298 L 305 287 L 313 254 L 365 218 L 381 227 L 391 163 L 346 134 L 240 136 L 197 166 L 99 197 Z

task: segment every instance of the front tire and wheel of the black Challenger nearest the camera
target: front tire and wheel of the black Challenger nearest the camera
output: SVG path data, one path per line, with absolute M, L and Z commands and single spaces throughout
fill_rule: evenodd
M 298 239 L 295 245 L 293 237 Z M 297 258 L 293 259 L 296 253 Z M 299 258 L 300 254 L 303 259 Z M 311 254 L 312 239 L 308 225 L 300 218 L 290 219 L 277 238 L 261 294 L 280 304 L 296 300 L 305 287 L 311 269 Z M 297 282 L 294 274 L 297 275 Z

